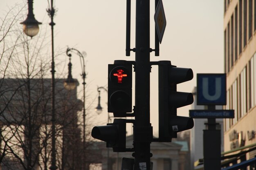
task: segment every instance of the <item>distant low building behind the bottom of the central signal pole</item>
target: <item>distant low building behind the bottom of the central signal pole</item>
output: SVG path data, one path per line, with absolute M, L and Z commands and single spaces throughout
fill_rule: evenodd
M 132 136 L 126 137 L 126 148 L 132 148 Z M 112 148 L 106 148 L 106 142 L 99 142 L 94 148 L 94 154 L 101 155 L 101 159 L 92 160 L 90 163 L 101 163 L 102 170 L 120 170 L 122 165 L 122 158 L 132 158 L 132 152 L 112 152 Z M 96 153 L 96 152 L 100 153 Z M 187 162 L 187 153 L 189 146 L 187 141 L 173 141 L 173 142 L 152 142 L 150 145 L 150 152 L 153 154 L 151 161 L 153 162 L 153 170 L 189 170 Z

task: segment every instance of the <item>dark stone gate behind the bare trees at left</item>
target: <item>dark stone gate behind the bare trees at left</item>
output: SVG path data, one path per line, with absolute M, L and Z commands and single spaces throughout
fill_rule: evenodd
M 1 79 L 0 170 L 39 170 L 50 165 L 51 81 Z M 83 151 L 77 112 L 83 102 L 77 99 L 76 88 L 64 89 L 64 81 L 55 81 L 56 161 L 58 169 L 81 170 Z

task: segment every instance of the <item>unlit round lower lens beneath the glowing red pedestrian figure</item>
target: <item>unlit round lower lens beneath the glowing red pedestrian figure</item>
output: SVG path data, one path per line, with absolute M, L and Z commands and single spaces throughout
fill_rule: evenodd
M 130 97 L 124 91 L 116 91 L 110 96 L 110 104 L 117 110 L 124 110 L 129 105 Z

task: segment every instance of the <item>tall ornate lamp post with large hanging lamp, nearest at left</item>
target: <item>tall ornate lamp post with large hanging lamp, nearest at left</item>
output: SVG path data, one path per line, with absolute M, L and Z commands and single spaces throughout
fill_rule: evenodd
M 38 24 L 41 24 L 41 22 L 38 22 L 33 14 L 33 0 L 28 0 L 28 9 L 29 13 L 27 15 L 27 19 L 24 22 L 21 22 L 20 24 L 23 24 L 23 31 L 26 35 L 30 36 L 31 38 L 36 35 L 39 31 Z M 51 22 L 49 25 L 52 29 L 52 165 L 50 166 L 50 170 L 56 170 L 56 148 L 55 148 L 55 78 L 54 78 L 54 25 L 53 22 L 55 9 L 53 8 L 53 0 L 51 0 L 51 6 L 46 10 L 48 12 L 49 17 L 51 18 Z

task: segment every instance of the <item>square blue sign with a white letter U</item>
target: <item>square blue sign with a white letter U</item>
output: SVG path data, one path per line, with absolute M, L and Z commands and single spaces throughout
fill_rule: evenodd
M 197 74 L 197 104 L 226 105 L 226 74 Z

